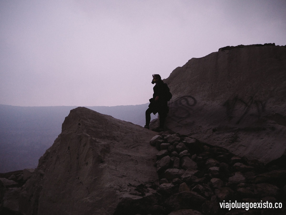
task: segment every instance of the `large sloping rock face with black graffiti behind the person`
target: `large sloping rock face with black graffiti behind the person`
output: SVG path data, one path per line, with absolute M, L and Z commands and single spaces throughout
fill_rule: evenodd
M 166 126 L 268 163 L 285 154 L 286 47 L 225 47 L 192 58 L 164 80 L 173 98 Z

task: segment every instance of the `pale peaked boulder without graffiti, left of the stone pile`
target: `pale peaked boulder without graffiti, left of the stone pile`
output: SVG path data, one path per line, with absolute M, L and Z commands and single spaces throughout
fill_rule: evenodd
M 149 144 L 154 134 L 84 107 L 71 110 L 61 134 L 23 186 L 19 211 L 114 214 L 125 201 L 144 207 L 146 196 L 154 192 L 148 186 L 158 180 L 157 151 Z

